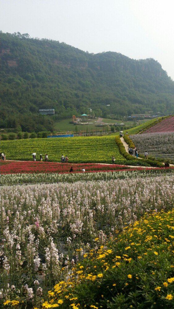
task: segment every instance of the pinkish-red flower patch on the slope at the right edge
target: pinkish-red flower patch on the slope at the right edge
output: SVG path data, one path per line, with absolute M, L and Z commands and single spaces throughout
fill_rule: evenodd
M 174 116 L 163 119 L 144 133 L 174 132 Z

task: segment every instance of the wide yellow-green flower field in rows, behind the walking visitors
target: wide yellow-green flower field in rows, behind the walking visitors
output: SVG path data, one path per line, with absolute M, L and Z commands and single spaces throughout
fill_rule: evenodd
M 1 151 L 10 160 L 32 160 L 36 152 L 36 160 L 48 153 L 49 161 L 54 162 L 61 162 L 62 154 L 68 155 L 70 163 L 111 163 L 112 155 L 119 164 L 125 162 L 112 135 L 1 141 Z

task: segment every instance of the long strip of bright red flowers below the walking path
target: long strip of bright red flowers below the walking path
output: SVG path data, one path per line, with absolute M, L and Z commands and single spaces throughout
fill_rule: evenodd
M 34 161 L 6 161 L 0 162 L 1 174 L 18 174 L 18 173 L 69 173 L 71 166 L 73 172 L 85 171 L 115 171 L 129 169 L 124 165 L 116 164 L 96 164 L 96 163 L 56 163 L 56 162 L 34 162 Z

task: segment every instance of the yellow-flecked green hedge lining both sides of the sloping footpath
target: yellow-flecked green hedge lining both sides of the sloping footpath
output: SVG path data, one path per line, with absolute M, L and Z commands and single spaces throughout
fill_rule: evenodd
M 125 136 L 124 136 L 125 138 Z M 128 142 L 128 139 L 130 140 Z M 129 155 L 127 153 L 127 151 L 125 150 L 125 147 L 123 145 L 123 143 L 121 142 L 121 139 L 119 136 L 116 136 L 115 137 L 115 142 L 119 148 L 119 151 L 121 153 L 121 155 L 123 155 L 123 157 L 126 159 L 126 160 L 131 160 L 131 161 L 136 161 L 136 165 L 139 165 L 139 166 L 154 166 L 154 167 L 163 167 L 163 164 L 156 161 L 156 160 L 150 160 L 150 159 L 146 159 L 146 160 L 141 160 L 141 159 L 137 159 L 131 155 Z M 125 141 L 128 145 L 132 145 L 131 147 L 135 147 L 134 143 L 132 142 L 132 140 L 129 138 L 129 136 L 127 135 L 127 138 L 126 138 L 126 141 Z M 130 146 L 129 146 L 130 147 Z

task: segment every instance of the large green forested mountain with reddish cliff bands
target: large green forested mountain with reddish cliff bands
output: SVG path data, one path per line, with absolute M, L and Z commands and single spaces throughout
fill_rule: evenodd
M 154 59 L 91 54 L 65 43 L 0 32 L 0 127 L 51 129 L 72 114 L 173 112 L 174 82 Z M 110 104 L 110 107 L 106 105 Z M 54 108 L 57 116 L 41 116 Z

